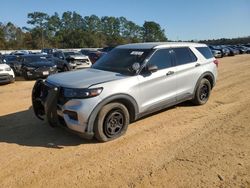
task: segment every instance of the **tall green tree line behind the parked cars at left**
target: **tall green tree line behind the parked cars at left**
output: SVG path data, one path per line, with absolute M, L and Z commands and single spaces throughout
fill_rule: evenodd
M 139 26 L 125 17 L 32 12 L 27 24 L 30 27 L 20 28 L 11 22 L 0 22 L 0 49 L 86 48 L 167 41 L 158 23 L 145 21 Z

